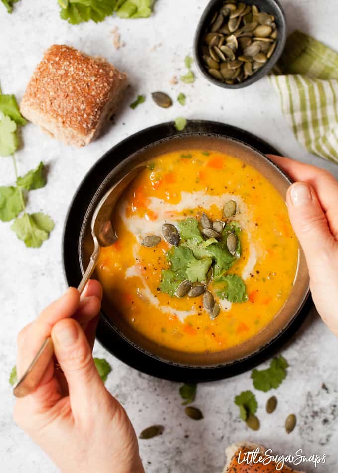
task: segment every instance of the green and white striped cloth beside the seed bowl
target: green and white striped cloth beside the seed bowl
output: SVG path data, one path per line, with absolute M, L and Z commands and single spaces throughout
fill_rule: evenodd
M 295 31 L 273 72 L 270 80 L 296 139 L 338 163 L 338 54 Z

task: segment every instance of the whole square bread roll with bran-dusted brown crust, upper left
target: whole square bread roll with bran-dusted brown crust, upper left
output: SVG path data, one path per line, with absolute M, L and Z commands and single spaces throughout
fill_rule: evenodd
M 30 79 L 22 115 L 68 145 L 84 146 L 116 111 L 127 76 L 105 59 L 53 45 Z

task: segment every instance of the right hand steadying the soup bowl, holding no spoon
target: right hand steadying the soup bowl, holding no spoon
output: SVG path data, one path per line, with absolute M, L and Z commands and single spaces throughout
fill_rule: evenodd
M 305 253 L 316 309 L 338 336 L 338 182 L 318 167 L 268 157 L 296 181 L 286 196 L 290 221 Z

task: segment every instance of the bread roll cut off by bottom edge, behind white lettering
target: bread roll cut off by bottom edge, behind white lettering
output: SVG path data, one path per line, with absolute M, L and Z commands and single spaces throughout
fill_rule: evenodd
M 246 463 L 245 461 L 243 461 L 244 454 L 246 452 L 255 451 L 257 448 L 259 448 L 260 456 L 264 457 L 265 456 L 264 452 L 266 451 L 266 448 L 263 447 L 262 445 L 257 445 L 251 442 L 240 442 L 240 443 L 233 444 L 227 447 L 225 450 L 225 454 L 227 457 L 227 464 L 224 467 L 223 473 L 275 473 L 277 472 L 276 463 L 273 461 L 268 463 L 267 465 L 264 465 L 263 463 L 254 463 L 254 462 L 252 465 L 250 465 Z M 238 462 L 239 454 L 240 454 L 240 460 L 242 460 L 242 462 L 240 463 Z M 279 473 L 305 473 L 305 472 L 300 472 L 298 470 L 293 470 L 292 468 L 289 468 L 287 465 L 283 466 L 283 468 L 278 470 L 278 472 Z

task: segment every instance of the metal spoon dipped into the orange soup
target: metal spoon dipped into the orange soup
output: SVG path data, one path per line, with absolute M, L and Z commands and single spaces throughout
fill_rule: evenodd
M 83 292 L 84 286 L 96 267 L 101 247 L 110 246 L 117 240 L 117 235 L 111 224 L 111 216 L 117 200 L 130 182 L 135 179 L 145 167 L 146 166 L 143 165 L 135 167 L 129 174 L 125 175 L 119 182 L 114 184 L 98 203 L 90 223 L 94 249 L 84 276 L 78 286 L 80 294 Z M 51 337 L 48 337 L 41 345 L 25 373 L 14 386 L 13 394 L 16 397 L 25 397 L 35 391 L 53 355 L 53 341 Z

